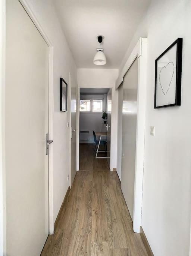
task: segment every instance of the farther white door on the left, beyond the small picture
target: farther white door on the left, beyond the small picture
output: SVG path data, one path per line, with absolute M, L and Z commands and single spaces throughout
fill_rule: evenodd
M 71 114 L 71 168 L 70 168 L 70 187 L 72 186 L 74 177 L 76 175 L 76 100 L 77 100 L 77 91 L 76 91 L 76 82 L 73 79 L 73 76 L 70 76 L 71 84 L 71 104 L 70 104 L 70 114 Z

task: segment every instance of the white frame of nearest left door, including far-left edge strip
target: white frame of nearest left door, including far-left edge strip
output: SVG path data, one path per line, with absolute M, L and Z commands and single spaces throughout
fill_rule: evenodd
M 41 27 L 40 22 L 38 21 L 37 17 L 35 16 L 34 12 L 32 11 L 32 8 L 29 6 L 29 4 L 26 2 L 26 0 L 19 0 L 19 2 L 24 7 L 25 11 L 31 18 L 32 22 L 36 26 L 37 30 L 40 32 L 41 36 L 47 43 L 49 47 L 49 63 L 48 63 L 48 134 L 49 138 L 53 139 L 53 44 L 51 43 L 50 39 L 48 38 L 47 34 Z M 1 119 L 0 119 L 0 125 L 1 125 L 1 138 L 2 139 L 2 148 L 1 150 L 1 159 L 2 159 L 2 165 L 0 166 L 0 186 L 2 186 L 2 192 L 0 192 L 0 197 L 2 195 L 3 198 L 3 217 L 1 218 L 0 213 L 0 222 L 3 222 L 3 237 L 0 237 L 0 254 L 1 251 L 3 251 L 3 255 L 6 255 L 6 177 L 5 177 L 5 138 L 4 138 L 4 124 L 5 124 L 5 30 L 6 30 L 6 16 L 5 16 L 5 10 L 6 10 L 6 0 L 3 0 L 1 2 L 1 28 L 0 28 L 0 36 L 2 36 L 2 46 L 0 48 L 0 54 L 3 57 L 2 62 L 0 64 L 0 72 L 2 73 L 2 89 L 0 91 L 1 93 L 1 103 L 2 103 L 2 109 L 1 109 Z M 48 197 L 49 197 L 49 234 L 54 234 L 54 216 L 53 216 L 53 145 L 49 148 L 49 155 L 48 155 Z M 1 249 L 2 244 L 2 249 Z

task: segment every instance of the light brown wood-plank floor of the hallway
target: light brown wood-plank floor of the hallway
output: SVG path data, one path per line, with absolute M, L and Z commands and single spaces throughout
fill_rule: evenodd
M 79 171 L 41 256 L 148 256 L 116 172 Z

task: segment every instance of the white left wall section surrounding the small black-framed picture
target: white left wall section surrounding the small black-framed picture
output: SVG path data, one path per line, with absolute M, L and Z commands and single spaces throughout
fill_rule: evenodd
M 41 27 L 54 46 L 53 63 L 53 199 L 54 221 L 56 220 L 63 198 L 68 189 L 68 113 L 60 112 L 60 77 L 69 82 L 69 72 L 76 79 L 76 66 L 66 38 L 60 27 L 57 13 L 51 0 L 26 0 L 37 17 Z M 51 138 L 52 139 L 52 138 Z

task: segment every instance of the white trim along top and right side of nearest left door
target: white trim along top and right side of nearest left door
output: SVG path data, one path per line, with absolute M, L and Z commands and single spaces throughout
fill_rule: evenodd
M 32 22 L 37 27 L 41 36 L 49 46 L 49 79 L 48 79 L 48 136 L 53 139 L 53 44 L 49 40 L 47 34 L 41 27 L 37 17 L 35 16 L 32 8 L 26 0 L 19 0 L 31 18 Z M 48 154 L 48 190 L 49 190 L 49 234 L 54 234 L 54 216 L 53 216 L 53 144 L 49 147 Z

